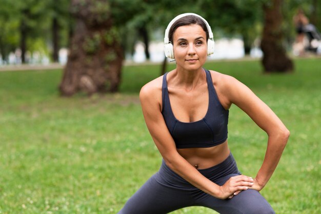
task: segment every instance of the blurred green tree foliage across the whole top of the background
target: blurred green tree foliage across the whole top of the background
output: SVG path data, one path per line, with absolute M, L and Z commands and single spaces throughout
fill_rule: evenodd
M 140 38 L 139 28 L 146 28 L 153 37 L 154 32 L 164 32 L 170 20 L 180 13 L 194 12 L 206 18 L 215 38 L 239 37 L 253 44 L 262 32 L 262 4 L 267 0 L 106 0 L 98 2 L 95 11 L 103 18 L 110 10 L 115 29 L 121 34 L 125 52 L 133 52 Z M 42 50 L 52 51 L 52 20 L 59 24 L 59 44 L 68 47 L 73 31 L 74 19 L 70 15 L 70 0 L 0 0 L 0 53 L 7 59 L 9 52 L 20 46 L 21 24 L 28 31 L 27 49 L 35 51 L 39 44 Z M 295 37 L 292 17 L 302 8 L 313 24 L 321 29 L 321 3 L 317 0 L 284 0 L 283 15 L 285 34 L 290 44 Z M 163 39 L 157 37 L 157 39 Z M 42 40 L 42 42 L 39 42 Z M 37 41 L 37 42 L 35 42 Z M 36 44 L 36 46 L 34 46 Z

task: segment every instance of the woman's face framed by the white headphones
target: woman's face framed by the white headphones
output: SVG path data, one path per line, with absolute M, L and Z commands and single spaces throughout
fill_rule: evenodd
M 177 67 L 202 68 L 207 59 L 206 32 L 199 25 L 178 27 L 173 34 L 173 50 Z

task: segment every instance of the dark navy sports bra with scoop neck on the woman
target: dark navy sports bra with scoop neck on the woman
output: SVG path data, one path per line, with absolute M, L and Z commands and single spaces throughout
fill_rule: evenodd
M 205 70 L 205 73 L 209 91 L 208 110 L 203 119 L 195 122 L 180 122 L 175 118 L 167 88 L 168 73 L 163 76 L 162 114 L 176 148 L 212 147 L 227 139 L 229 110 L 225 110 L 219 102 L 210 72 Z

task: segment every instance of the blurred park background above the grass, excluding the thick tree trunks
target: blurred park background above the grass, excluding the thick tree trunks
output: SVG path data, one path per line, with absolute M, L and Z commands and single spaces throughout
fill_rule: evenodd
M 78 0 L 0 0 L 0 66 L 28 64 L 65 65 L 75 33 Z M 262 57 L 260 41 L 264 28 L 263 5 L 273 1 L 253 0 L 112 0 L 96 1 L 104 6 L 91 13 L 110 14 L 126 61 L 164 60 L 164 31 L 170 20 L 184 12 L 206 18 L 212 27 L 216 51 L 212 59 Z M 293 17 L 300 8 L 316 29 L 321 29 L 318 0 L 280 1 L 284 46 L 294 55 L 296 27 Z M 306 35 L 304 49 L 321 54 L 316 39 Z

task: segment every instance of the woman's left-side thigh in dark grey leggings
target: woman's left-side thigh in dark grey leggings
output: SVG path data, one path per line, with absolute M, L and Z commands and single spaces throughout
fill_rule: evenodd
M 187 190 L 170 188 L 151 177 L 126 202 L 118 214 L 161 214 L 191 206 L 193 200 Z

